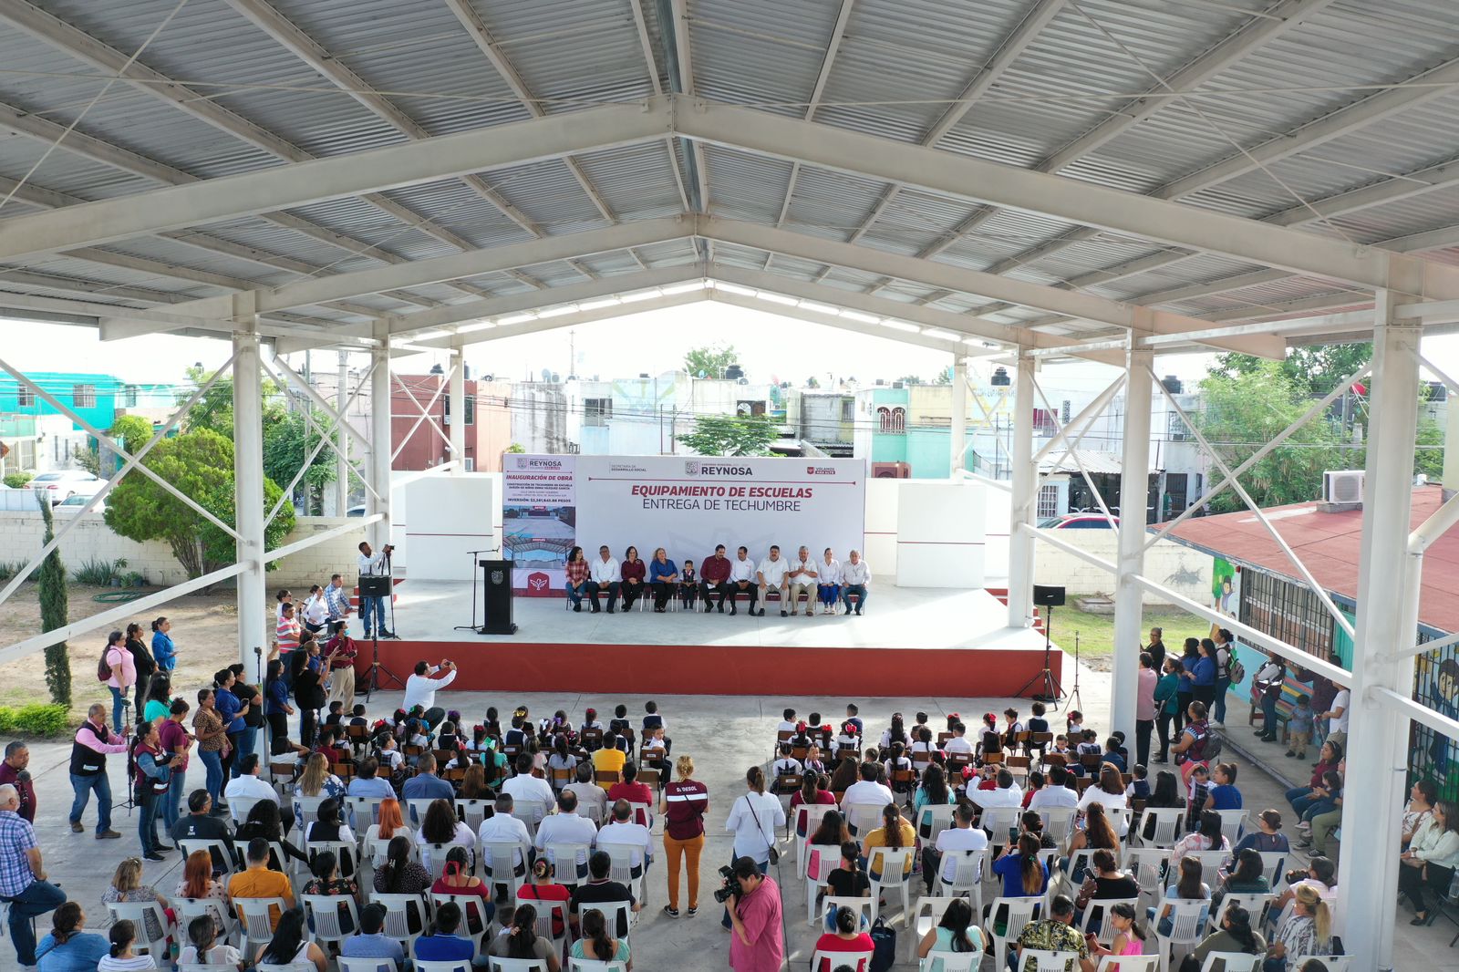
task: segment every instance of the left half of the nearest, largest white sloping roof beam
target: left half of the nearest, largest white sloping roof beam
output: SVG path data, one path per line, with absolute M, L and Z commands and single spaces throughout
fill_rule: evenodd
M 6 0 L 0 0 L 4 3 Z M 659 139 L 668 105 L 604 105 L 0 222 L 0 260 Z

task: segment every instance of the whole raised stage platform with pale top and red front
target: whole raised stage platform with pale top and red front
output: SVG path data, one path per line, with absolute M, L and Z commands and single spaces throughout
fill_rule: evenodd
M 878 587 L 861 617 L 731 616 L 703 609 L 655 614 L 563 610 L 557 597 L 519 597 L 516 635 L 454 630 L 471 623 L 471 585 L 404 581 L 395 632 L 379 660 L 406 677 L 416 661 L 455 661 L 452 687 L 678 695 L 1011 696 L 1043 667 L 1043 635 L 1007 628 L 982 590 Z M 360 652 L 368 660 L 369 648 Z M 1061 677 L 1062 652 L 1050 667 Z

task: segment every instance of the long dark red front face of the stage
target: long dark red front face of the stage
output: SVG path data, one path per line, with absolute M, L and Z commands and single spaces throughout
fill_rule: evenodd
M 1030 648 L 791 648 L 778 645 L 587 645 L 381 642 L 379 661 L 401 677 L 417 661 L 460 667 L 446 692 L 632 695 L 1013 696 L 1043 668 Z M 1062 680 L 1064 654 L 1049 664 Z M 360 677 L 368 652 L 356 663 Z M 868 682 L 868 673 L 874 677 Z

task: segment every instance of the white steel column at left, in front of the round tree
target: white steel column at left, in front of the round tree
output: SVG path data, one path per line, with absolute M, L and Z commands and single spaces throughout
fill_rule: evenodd
M 233 522 L 238 530 L 238 661 L 252 673 L 255 648 L 268 648 L 264 587 L 264 412 L 258 333 L 251 293 L 239 293 L 233 333 Z

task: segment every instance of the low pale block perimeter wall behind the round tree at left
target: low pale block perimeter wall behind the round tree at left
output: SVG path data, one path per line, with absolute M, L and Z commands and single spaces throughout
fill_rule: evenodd
M 349 522 L 333 517 L 299 517 L 285 543 L 305 540 L 311 534 Z M 60 527 L 60 522 L 57 524 Z M 268 587 L 303 587 L 318 581 L 327 582 L 330 574 L 343 574 L 350 582 L 356 571 L 356 547 L 365 537 L 365 528 L 325 540 L 279 562 L 268 572 Z M 44 546 L 45 524 L 39 512 L 0 512 L 0 558 L 6 560 L 28 560 Z M 137 571 L 149 584 L 181 584 L 187 579 L 182 565 L 172 556 L 172 549 L 160 540 L 137 543 L 111 531 L 101 514 L 86 514 L 66 539 L 61 540 L 61 559 L 67 572 L 88 560 L 127 562 L 127 571 Z

